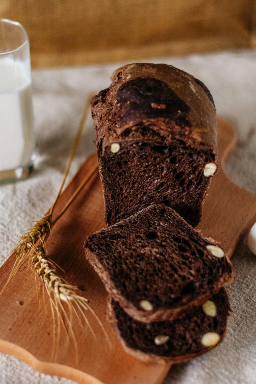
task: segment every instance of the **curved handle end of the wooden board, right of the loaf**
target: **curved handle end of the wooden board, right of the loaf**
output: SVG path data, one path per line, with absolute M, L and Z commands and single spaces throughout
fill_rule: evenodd
M 204 236 L 219 241 L 228 257 L 256 221 L 256 195 L 235 185 L 223 169 L 235 143 L 234 128 L 218 118 L 219 169 L 212 178 L 197 227 Z

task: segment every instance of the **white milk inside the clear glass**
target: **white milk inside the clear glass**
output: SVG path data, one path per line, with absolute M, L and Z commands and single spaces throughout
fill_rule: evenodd
M 32 91 L 25 65 L 9 57 L 0 58 L 0 171 L 31 164 Z

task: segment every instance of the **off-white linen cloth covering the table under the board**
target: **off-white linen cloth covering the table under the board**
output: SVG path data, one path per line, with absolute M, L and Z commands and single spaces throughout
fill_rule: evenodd
M 256 193 L 256 51 L 147 61 L 172 64 L 206 84 L 217 114 L 237 128 L 238 144 L 226 171 L 238 185 Z M 41 218 L 53 202 L 86 96 L 90 90 L 106 88 L 118 65 L 33 71 L 36 169 L 25 181 L 0 186 L 0 261 L 12 248 L 13 242 L 7 240 L 28 228 L 31 220 Z M 90 118 L 70 178 L 86 155 L 94 152 L 93 139 Z M 236 312 L 230 317 L 226 338 L 210 353 L 173 367 L 165 384 L 256 383 L 256 256 L 250 253 L 246 240 L 232 261 L 235 277 L 228 290 Z M 11 383 L 74 382 L 39 374 L 18 359 L 0 354 L 0 384 Z

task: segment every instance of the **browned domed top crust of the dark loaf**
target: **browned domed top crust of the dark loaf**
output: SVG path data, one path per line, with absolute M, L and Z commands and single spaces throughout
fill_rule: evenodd
M 148 63 L 125 65 L 111 80 L 92 100 L 98 150 L 123 140 L 125 130 L 150 127 L 159 141 L 185 136 L 192 147 L 206 146 L 217 155 L 215 106 L 200 80 L 171 65 Z

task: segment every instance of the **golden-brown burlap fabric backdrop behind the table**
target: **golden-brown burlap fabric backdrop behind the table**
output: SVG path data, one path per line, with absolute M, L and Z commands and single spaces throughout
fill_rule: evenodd
M 256 0 L 0 0 L 32 66 L 256 47 Z

